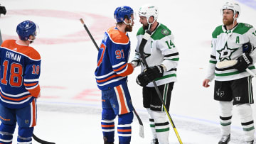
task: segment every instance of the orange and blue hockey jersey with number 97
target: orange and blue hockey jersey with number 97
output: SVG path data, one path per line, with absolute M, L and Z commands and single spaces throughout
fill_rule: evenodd
M 127 75 L 134 68 L 127 63 L 130 53 L 130 40 L 127 33 L 122 33 L 116 27 L 109 28 L 104 35 L 97 56 L 95 70 L 97 87 L 107 90 L 127 82 Z

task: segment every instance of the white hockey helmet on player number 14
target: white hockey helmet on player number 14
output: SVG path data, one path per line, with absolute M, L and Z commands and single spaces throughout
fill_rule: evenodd
M 154 21 L 158 18 L 159 11 L 156 6 L 147 4 L 139 8 L 139 16 L 145 16 L 146 21 L 149 23 L 150 16 L 154 16 Z M 154 23 L 154 21 L 152 23 Z M 150 24 L 150 23 L 149 23 Z

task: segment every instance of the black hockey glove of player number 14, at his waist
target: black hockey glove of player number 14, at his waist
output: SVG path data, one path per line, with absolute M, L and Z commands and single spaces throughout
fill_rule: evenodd
M 136 82 L 142 87 L 145 87 L 149 82 L 152 82 L 158 77 L 162 77 L 164 74 L 164 67 L 161 65 L 156 65 L 149 67 L 144 72 L 138 75 Z

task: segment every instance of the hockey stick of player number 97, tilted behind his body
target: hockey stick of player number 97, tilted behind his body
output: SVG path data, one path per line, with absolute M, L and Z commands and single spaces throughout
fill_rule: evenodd
M 92 34 L 90 33 L 89 29 L 85 25 L 85 22 L 82 20 L 82 18 L 80 18 L 80 21 L 81 21 L 82 25 L 85 27 L 85 30 L 87 31 L 88 35 L 90 36 L 93 44 L 95 45 L 97 50 L 99 50 L 99 47 L 98 47 L 97 43 L 95 42 L 95 39 L 92 37 Z M 132 108 L 134 109 L 134 106 L 132 106 Z M 139 136 L 144 138 L 144 127 L 143 127 L 142 120 L 141 120 L 141 118 L 139 118 L 139 115 L 138 115 L 138 113 L 135 109 L 134 109 L 134 113 L 135 113 L 135 116 L 137 117 L 137 119 L 139 121 Z

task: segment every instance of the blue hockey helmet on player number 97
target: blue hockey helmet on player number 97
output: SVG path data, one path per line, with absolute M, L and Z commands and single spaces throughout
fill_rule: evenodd
M 132 14 L 134 14 L 134 11 L 131 7 L 120 6 L 114 11 L 114 19 L 117 21 L 117 23 L 123 22 L 125 18 L 131 19 Z

